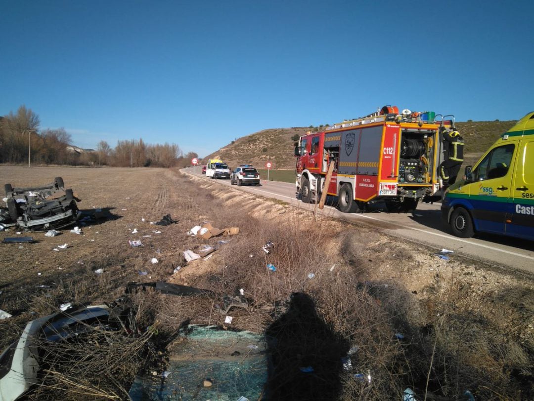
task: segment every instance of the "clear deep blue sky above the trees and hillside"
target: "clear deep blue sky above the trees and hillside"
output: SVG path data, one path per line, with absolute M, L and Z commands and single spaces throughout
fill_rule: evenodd
M 0 115 L 73 142 L 205 156 L 386 104 L 467 119 L 534 110 L 534 2 L 0 1 Z

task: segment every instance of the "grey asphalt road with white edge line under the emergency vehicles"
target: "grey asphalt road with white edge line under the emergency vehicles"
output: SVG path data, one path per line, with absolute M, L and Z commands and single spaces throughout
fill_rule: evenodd
M 193 167 L 188 167 L 183 171 L 211 180 L 200 173 L 200 167 L 197 167 L 196 173 Z M 217 183 L 230 186 L 230 180 L 217 180 Z M 290 205 L 305 209 L 311 210 L 315 207 L 295 199 L 295 185 L 287 182 L 262 180 L 259 187 L 237 187 L 235 185 L 232 187 L 284 200 Z M 324 210 L 317 211 L 337 219 L 365 223 L 392 236 L 429 245 L 434 247 L 436 252 L 446 248 L 466 258 L 485 262 L 491 266 L 534 273 L 534 242 L 493 235 L 477 235 L 467 239 L 455 237 L 449 234 L 448 227 L 443 226 L 439 207 L 439 203 L 420 204 L 417 210 L 411 213 L 386 213 L 381 210 L 380 205 L 368 213 L 341 213 L 332 206 L 325 206 Z

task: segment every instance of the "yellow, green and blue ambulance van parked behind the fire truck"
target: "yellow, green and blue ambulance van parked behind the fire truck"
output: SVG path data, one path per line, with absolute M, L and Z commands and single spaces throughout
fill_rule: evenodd
M 486 151 L 442 200 L 454 235 L 490 232 L 534 240 L 534 111 Z

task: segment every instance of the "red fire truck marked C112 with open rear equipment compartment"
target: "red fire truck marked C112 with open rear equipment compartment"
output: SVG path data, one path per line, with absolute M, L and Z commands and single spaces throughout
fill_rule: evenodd
M 307 133 L 295 143 L 297 197 L 317 202 L 334 162 L 326 190 L 337 196 L 342 212 L 362 212 L 374 202 L 384 202 L 390 212 L 406 212 L 418 202 L 438 200 L 442 131 L 451 126 L 452 115 L 408 109 L 399 113 L 395 106 L 384 106 L 323 132 Z

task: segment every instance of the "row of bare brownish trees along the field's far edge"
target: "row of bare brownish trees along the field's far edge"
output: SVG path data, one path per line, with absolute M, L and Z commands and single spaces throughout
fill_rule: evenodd
M 108 165 L 119 167 L 182 167 L 190 164 L 194 152 L 183 154 L 175 143 L 151 145 L 143 139 L 122 140 L 112 148 L 106 141 L 92 151 L 77 151 L 65 129 L 39 129 L 40 119 L 31 109 L 20 106 L 0 116 L 0 163 Z

